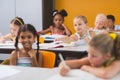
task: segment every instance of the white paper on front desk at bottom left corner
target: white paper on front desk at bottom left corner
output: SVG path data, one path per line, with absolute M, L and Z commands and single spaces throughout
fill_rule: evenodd
M 0 80 L 9 76 L 15 75 L 19 72 L 20 71 L 16 69 L 12 69 L 6 66 L 0 66 Z

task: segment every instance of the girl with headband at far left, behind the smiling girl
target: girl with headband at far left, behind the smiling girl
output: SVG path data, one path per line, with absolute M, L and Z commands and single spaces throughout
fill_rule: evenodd
M 6 40 L 12 40 L 15 41 L 15 37 L 17 36 L 19 28 L 24 25 L 24 21 L 20 17 L 15 17 L 10 22 L 10 33 L 6 34 L 5 36 L 2 36 L 0 38 L 1 43 L 5 43 Z

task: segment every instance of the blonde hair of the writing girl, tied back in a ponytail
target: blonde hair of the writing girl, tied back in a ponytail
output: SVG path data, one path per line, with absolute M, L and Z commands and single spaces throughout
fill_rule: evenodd
M 116 59 L 120 59 L 120 35 L 113 39 L 108 34 L 98 34 L 92 38 L 89 45 L 103 54 L 110 52 Z

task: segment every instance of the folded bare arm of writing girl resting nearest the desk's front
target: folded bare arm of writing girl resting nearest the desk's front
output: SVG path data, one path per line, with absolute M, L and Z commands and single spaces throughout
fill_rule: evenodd
M 83 66 L 81 69 L 88 71 L 97 77 L 109 79 L 113 78 L 120 72 L 120 61 L 115 61 L 108 67 L 95 68 L 91 66 Z

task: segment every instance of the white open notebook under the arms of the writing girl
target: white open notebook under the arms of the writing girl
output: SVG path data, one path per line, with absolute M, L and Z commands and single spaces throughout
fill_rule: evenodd
M 105 80 L 94 76 L 88 72 L 82 71 L 80 69 L 71 70 L 67 76 L 61 76 L 60 74 L 53 75 L 47 80 Z M 107 80 L 120 80 L 120 74 L 114 77 L 113 79 Z

